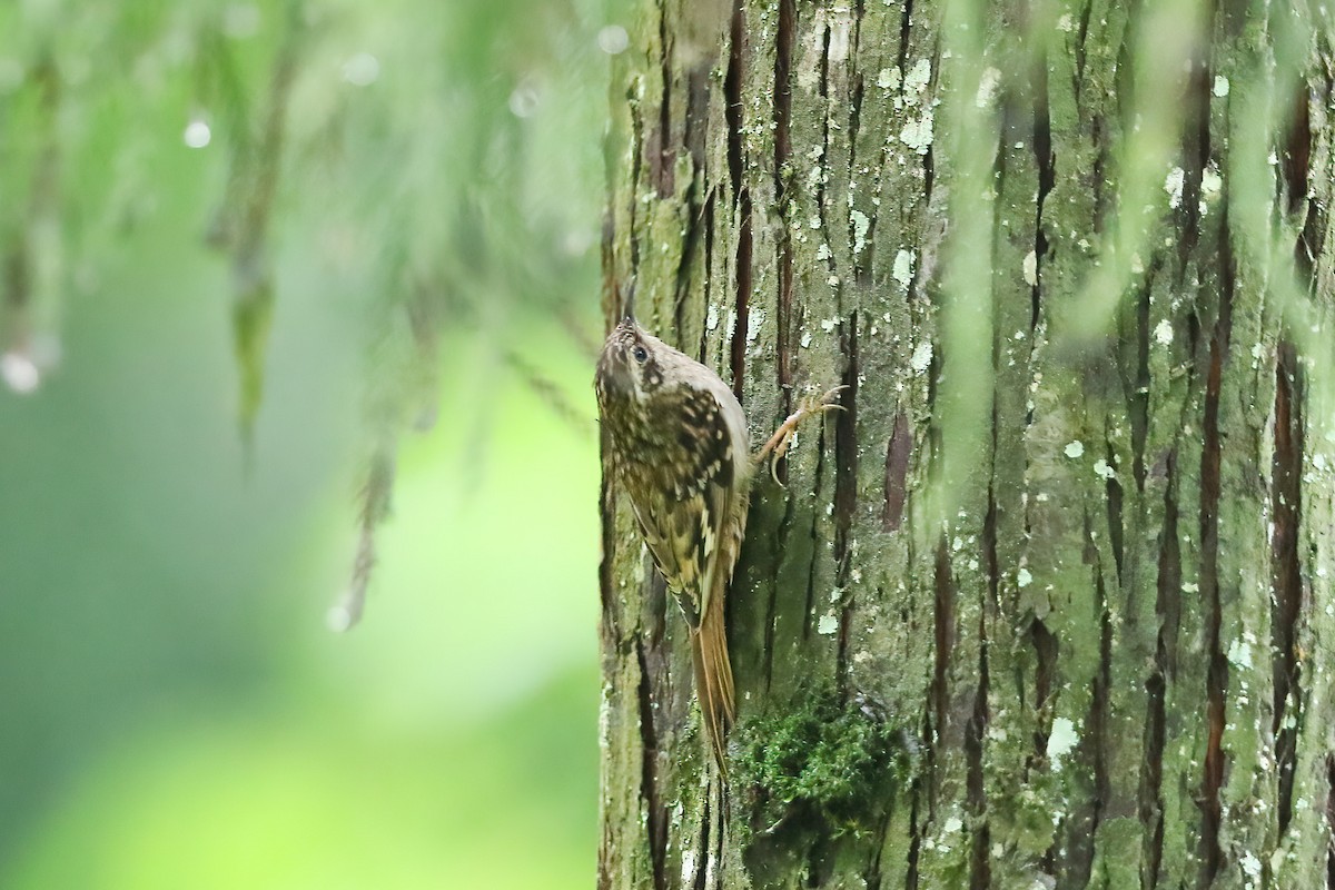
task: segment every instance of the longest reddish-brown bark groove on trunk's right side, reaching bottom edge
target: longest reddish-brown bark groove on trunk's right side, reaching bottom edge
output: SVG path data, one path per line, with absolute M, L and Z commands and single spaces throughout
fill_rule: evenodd
M 1236 267 L 1228 240 L 1228 220 L 1220 239 L 1219 319 L 1210 340 L 1210 374 L 1206 380 L 1204 448 L 1200 458 L 1200 594 L 1206 606 L 1206 647 L 1210 667 L 1206 681 L 1208 735 L 1200 809 L 1200 886 L 1208 887 L 1224 862 L 1219 845 L 1223 807 L 1219 789 L 1224 781 L 1224 697 L 1228 691 L 1228 660 L 1220 643 L 1223 608 L 1219 595 L 1219 498 L 1222 446 L 1219 436 L 1219 394 L 1224 360 L 1232 332 L 1232 283 Z

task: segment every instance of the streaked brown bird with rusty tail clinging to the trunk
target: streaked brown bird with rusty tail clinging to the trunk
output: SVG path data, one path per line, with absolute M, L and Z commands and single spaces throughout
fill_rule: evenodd
M 789 416 L 752 455 L 746 415 L 728 384 L 629 318 L 603 344 L 594 387 L 614 472 L 690 627 L 701 718 L 726 773 L 726 734 L 737 711 L 724 600 L 746 532 L 754 470 L 765 456 L 784 454 L 804 418 L 836 407 L 838 390 Z

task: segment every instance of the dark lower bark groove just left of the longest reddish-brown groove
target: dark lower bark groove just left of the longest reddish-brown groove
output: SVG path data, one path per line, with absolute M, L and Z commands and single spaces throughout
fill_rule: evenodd
M 1164 697 L 1168 679 L 1176 674 L 1177 626 L 1181 619 L 1181 552 L 1177 542 L 1177 494 L 1175 487 L 1177 455 L 1165 458 L 1164 524 L 1159 535 L 1159 575 L 1155 596 L 1155 616 L 1159 635 L 1155 643 L 1155 670 L 1145 682 L 1148 694 L 1145 715 L 1145 755 L 1140 777 L 1140 822 L 1149 830 L 1144 834 L 1144 865 L 1140 873 L 1141 890 L 1159 885 L 1159 867 L 1164 849 L 1163 759 L 1167 733 Z

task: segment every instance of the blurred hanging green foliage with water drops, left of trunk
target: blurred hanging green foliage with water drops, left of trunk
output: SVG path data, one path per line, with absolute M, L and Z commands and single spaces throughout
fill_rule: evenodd
M 222 262 L 232 416 L 262 436 L 271 327 L 316 286 L 360 316 L 370 579 L 399 439 L 435 419 L 442 343 L 539 387 L 514 340 L 591 339 L 598 140 L 618 0 L 47 3 L 0 11 L 0 371 L 57 374 L 67 316 L 166 223 Z M 192 203 L 174 200 L 188 171 Z M 294 267 L 319 275 L 292 275 Z M 555 322 L 555 323 L 554 323 Z M 559 402 L 559 399 L 557 399 Z M 479 439 L 487 430 L 474 431 Z M 262 459 L 258 458 L 258 459 Z

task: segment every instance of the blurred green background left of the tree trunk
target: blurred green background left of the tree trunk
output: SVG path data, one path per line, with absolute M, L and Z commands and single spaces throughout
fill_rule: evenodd
M 0 887 L 593 881 L 619 24 L 610 0 L 0 11 Z M 207 236 L 254 196 L 288 51 L 243 435 L 246 288 Z M 366 615 L 335 634 L 386 443 Z

